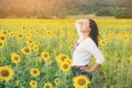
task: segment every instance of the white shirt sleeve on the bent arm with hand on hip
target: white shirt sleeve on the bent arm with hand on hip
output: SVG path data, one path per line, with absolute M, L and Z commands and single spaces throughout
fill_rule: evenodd
M 97 59 L 96 63 L 102 64 L 105 62 L 101 51 L 97 47 L 94 41 L 89 41 L 87 51 Z

